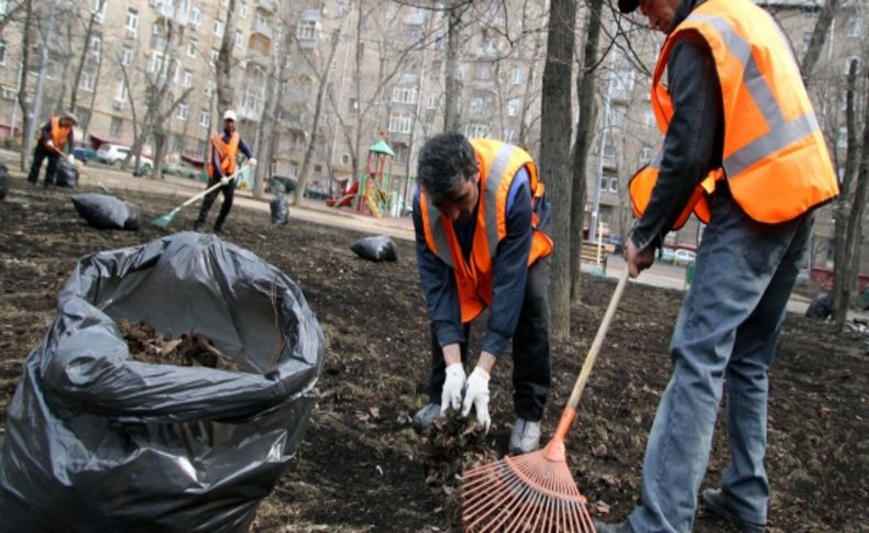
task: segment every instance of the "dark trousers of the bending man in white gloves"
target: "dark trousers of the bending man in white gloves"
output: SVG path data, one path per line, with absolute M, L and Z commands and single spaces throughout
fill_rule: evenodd
M 513 334 L 513 407 L 516 415 L 538 421 L 543 415 L 551 381 L 549 368 L 549 257 L 538 259 L 528 269 L 525 300 L 519 322 Z M 441 389 L 447 379 L 443 351 L 431 330 L 431 375 L 428 391 L 431 403 L 441 402 Z M 468 359 L 468 338 L 471 324 L 464 324 L 465 342 L 460 345 L 462 363 Z

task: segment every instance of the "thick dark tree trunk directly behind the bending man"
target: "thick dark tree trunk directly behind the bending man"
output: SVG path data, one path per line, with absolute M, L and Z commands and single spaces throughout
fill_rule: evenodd
M 540 175 L 552 202 L 549 234 L 556 243 L 550 257 L 552 281 L 549 300 L 551 334 L 570 336 L 570 207 L 571 67 L 573 65 L 575 0 L 552 0 L 549 8 L 547 55 L 543 67 L 540 132 Z

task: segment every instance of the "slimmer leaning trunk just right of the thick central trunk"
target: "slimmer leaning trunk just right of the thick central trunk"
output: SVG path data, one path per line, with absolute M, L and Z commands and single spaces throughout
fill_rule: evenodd
M 579 303 L 581 290 L 582 230 L 585 224 L 585 166 L 588 149 L 594 138 L 597 123 L 595 101 L 595 68 L 597 66 L 597 43 L 601 37 L 601 13 L 603 0 L 591 0 L 588 24 L 585 29 L 585 46 L 582 66 L 576 73 L 576 98 L 580 115 L 576 120 L 576 138 L 573 144 L 573 190 L 570 209 L 570 301 Z

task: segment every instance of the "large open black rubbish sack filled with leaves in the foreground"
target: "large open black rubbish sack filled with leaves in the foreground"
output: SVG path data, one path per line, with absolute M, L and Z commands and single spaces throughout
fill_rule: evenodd
M 195 330 L 243 371 L 131 360 L 120 319 Z M 323 355 L 299 287 L 215 235 L 84 257 L 9 406 L 0 531 L 246 532 Z

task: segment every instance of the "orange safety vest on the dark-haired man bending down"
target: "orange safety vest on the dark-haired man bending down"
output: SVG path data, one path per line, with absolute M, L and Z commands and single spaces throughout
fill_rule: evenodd
M 507 196 L 516 173 L 520 168 L 528 171 L 532 210 L 544 189 L 531 156 L 518 146 L 487 138 L 473 138 L 471 145 L 480 167 L 481 195 L 468 259 L 462 255 L 452 222 L 440 214 L 422 190 L 419 192 L 426 244 L 454 273 L 463 323 L 471 322 L 492 304 L 492 264 L 498 243 L 507 236 Z M 552 253 L 552 240 L 537 229 L 537 222 L 535 213 L 529 266 Z

